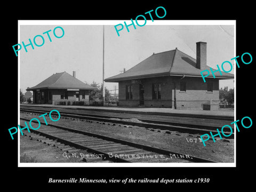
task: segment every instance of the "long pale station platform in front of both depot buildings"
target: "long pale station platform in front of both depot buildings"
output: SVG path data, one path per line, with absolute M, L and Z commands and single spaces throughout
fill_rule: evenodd
M 203 109 L 171 109 L 171 108 L 147 108 L 147 107 L 113 107 L 113 106 L 62 106 L 50 104 L 20 104 L 20 106 L 33 107 L 52 107 L 52 108 L 74 108 L 74 109 L 93 109 L 107 110 L 115 112 L 139 112 L 139 113 L 159 113 L 159 114 L 191 114 L 191 115 L 209 115 L 209 116 L 228 116 L 234 117 L 234 109 L 220 109 L 218 111 L 210 111 Z

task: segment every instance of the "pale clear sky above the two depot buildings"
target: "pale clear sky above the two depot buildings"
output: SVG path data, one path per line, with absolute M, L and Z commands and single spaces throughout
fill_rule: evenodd
M 131 21 L 130 21 L 131 22 Z M 130 23 L 126 21 L 126 23 Z M 145 60 L 153 53 L 174 50 L 196 58 L 196 42 L 207 42 L 207 65 L 212 68 L 221 66 L 223 61 L 234 58 L 235 28 L 233 23 L 211 21 L 202 23 L 189 21 L 182 22 L 147 21 L 143 27 L 130 26 L 130 32 L 124 29 L 117 35 L 114 26 L 124 21 L 20 21 L 19 42 L 29 44 L 36 35 L 44 37 L 42 46 L 22 47 L 19 54 L 20 89 L 23 93 L 27 87 L 32 87 L 44 81 L 55 73 L 66 71 L 85 83 L 102 83 L 103 66 L 103 25 L 104 27 L 104 63 L 105 78 L 120 74 Z M 204 21 L 205 22 L 205 21 Z M 49 24 L 48 24 L 49 23 Z M 178 24 L 177 24 L 178 23 Z M 154 24 L 154 25 L 153 25 Z M 181 25 L 182 24 L 182 25 Z M 219 25 L 220 24 L 220 25 Z M 222 24 L 222 25 L 221 25 Z M 225 25 L 223 25 L 225 24 Z M 62 27 L 65 34 L 61 38 L 53 35 L 55 27 Z M 52 42 L 45 31 L 49 31 Z M 62 31 L 55 30 L 57 36 Z M 41 38 L 36 38 L 37 44 L 42 44 Z M 15 54 L 15 53 L 14 53 Z M 234 74 L 233 70 L 230 72 Z M 226 70 L 229 70 L 227 68 Z M 118 83 L 105 83 L 107 89 L 113 90 Z M 234 80 L 221 80 L 220 87 L 234 87 Z

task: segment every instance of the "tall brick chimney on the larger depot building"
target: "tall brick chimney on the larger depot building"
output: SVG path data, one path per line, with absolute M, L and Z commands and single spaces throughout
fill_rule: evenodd
M 196 43 L 196 68 L 204 69 L 206 66 L 206 42 Z

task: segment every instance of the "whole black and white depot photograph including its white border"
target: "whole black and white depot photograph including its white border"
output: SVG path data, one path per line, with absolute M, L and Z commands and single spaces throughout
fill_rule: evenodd
M 235 21 L 48 23 L 19 23 L 19 166 L 235 166 Z

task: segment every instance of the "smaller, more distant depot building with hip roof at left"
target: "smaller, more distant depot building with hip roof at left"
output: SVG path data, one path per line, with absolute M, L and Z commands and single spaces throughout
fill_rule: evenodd
M 83 105 L 89 105 L 89 92 L 95 87 L 87 85 L 66 71 L 56 73 L 45 79 L 38 85 L 27 89 L 33 91 L 33 101 L 39 104 L 72 105 L 73 102 L 84 102 Z

